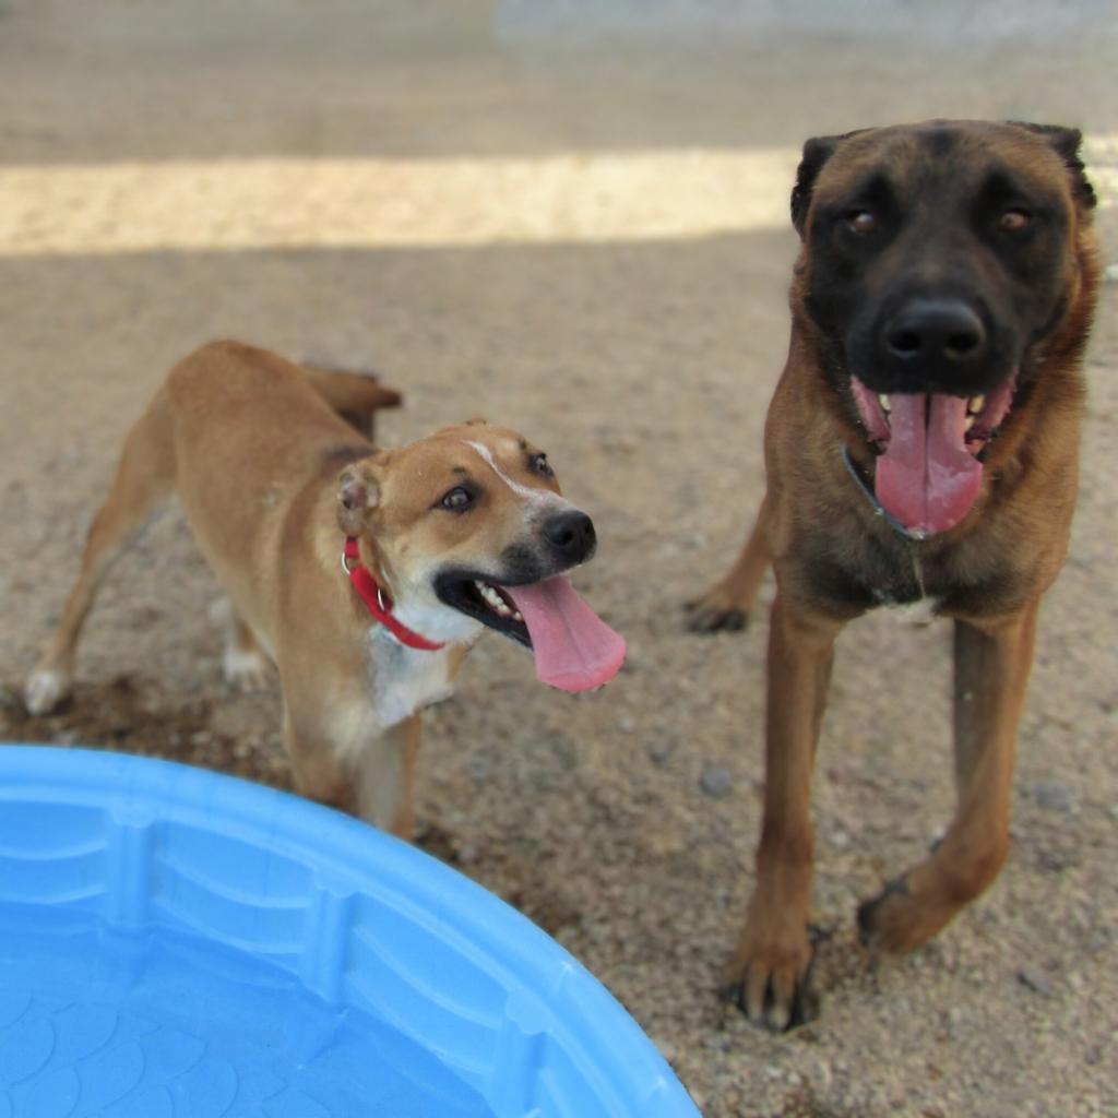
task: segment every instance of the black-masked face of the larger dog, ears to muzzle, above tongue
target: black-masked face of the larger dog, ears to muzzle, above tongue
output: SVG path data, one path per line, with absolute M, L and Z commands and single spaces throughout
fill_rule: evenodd
M 1027 383 L 1093 205 L 1079 140 L 931 122 L 808 141 L 792 199 L 804 306 L 842 395 L 851 376 L 874 396 L 976 401 Z

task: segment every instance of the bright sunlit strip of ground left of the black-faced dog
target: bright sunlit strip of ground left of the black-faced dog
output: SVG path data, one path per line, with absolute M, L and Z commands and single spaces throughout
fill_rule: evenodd
M 783 229 L 795 149 L 0 168 L 0 255 L 617 241 Z

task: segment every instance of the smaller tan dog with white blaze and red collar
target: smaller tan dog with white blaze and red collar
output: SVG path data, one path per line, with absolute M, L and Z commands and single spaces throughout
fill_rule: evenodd
M 253 680 L 264 654 L 280 670 L 296 788 L 398 835 L 419 710 L 485 627 L 555 686 L 612 679 L 625 642 L 559 577 L 590 558 L 594 524 L 546 456 L 481 420 L 376 451 L 335 409 L 378 389 L 236 342 L 176 366 L 127 437 L 28 709 L 66 697 L 101 578 L 172 495 L 231 599 L 226 676 Z

